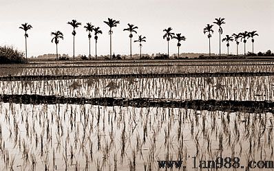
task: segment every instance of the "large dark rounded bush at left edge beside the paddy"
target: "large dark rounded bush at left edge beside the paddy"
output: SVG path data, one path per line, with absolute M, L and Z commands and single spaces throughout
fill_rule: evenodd
M 4 46 L 0 47 L 0 63 L 25 63 L 27 60 L 24 58 L 24 53 L 19 52 L 14 47 Z

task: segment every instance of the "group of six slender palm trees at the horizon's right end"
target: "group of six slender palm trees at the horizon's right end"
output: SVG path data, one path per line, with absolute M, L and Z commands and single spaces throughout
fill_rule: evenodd
M 219 56 L 221 56 L 221 34 L 223 33 L 222 30 L 222 25 L 225 24 L 224 18 L 219 18 L 215 19 L 213 22 L 216 25 L 218 25 L 219 29 Z M 204 27 L 204 34 L 207 34 L 207 38 L 209 38 L 209 56 L 211 56 L 211 43 L 210 43 L 210 38 L 212 37 L 213 34 L 213 25 L 207 24 L 206 27 Z M 238 56 L 238 45 L 240 44 L 240 41 L 244 42 L 244 56 L 246 55 L 246 39 L 247 38 L 252 38 L 252 53 L 254 54 L 254 36 L 259 36 L 257 34 L 257 31 L 253 32 L 240 32 L 239 34 L 232 34 L 232 36 L 226 35 L 226 37 L 222 38 L 222 42 L 226 42 L 226 47 L 227 47 L 227 55 L 229 55 L 229 41 L 233 41 L 233 38 L 235 39 L 236 45 L 237 45 L 237 56 Z

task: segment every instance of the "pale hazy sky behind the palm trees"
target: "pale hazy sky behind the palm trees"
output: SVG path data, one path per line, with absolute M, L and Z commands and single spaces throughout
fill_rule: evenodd
M 28 55 L 55 53 L 50 32 L 60 30 L 64 40 L 59 43 L 61 54 L 72 55 L 72 26 L 67 21 L 76 19 L 85 25 L 91 22 L 101 27 L 98 36 L 98 55 L 109 53 L 109 27 L 103 23 L 107 18 L 120 21 L 113 31 L 113 52 L 129 54 L 129 32 L 123 32 L 127 23 L 139 27 L 138 35 L 147 37 L 143 43 L 144 53 L 167 52 L 167 41 L 162 30 L 172 27 L 173 32 L 182 33 L 187 41 L 182 43 L 180 52 L 208 53 L 208 38 L 203 28 L 215 18 L 225 18 L 224 34 L 257 30 L 255 52 L 274 50 L 274 1 L 273 0 L 0 0 L 0 45 L 13 45 L 25 49 L 21 23 L 28 22 L 33 29 L 28 32 Z M 215 30 L 211 52 L 218 53 L 218 27 Z M 76 30 L 76 53 L 88 54 L 87 32 L 83 25 Z M 134 34 L 137 39 L 137 34 Z M 135 40 L 134 39 L 134 40 Z M 94 55 L 92 35 L 92 55 Z M 240 44 L 240 53 L 243 53 Z M 251 51 L 251 40 L 246 51 Z M 235 53 L 235 43 L 231 52 Z M 133 54 L 138 53 L 138 43 L 133 44 Z M 177 53 L 176 40 L 171 40 L 170 53 Z M 226 43 L 222 43 L 226 53 Z

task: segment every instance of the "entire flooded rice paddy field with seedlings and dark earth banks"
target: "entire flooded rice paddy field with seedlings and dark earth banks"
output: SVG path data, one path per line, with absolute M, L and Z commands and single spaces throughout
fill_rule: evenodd
M 0 170 L 274 170 L 273 65 L 0 65 Z M 200 165 L 220 157 L 222 168 Z M 160 168 L 158 161 L 184 167 Z M 250 161 L 260 165 L 249 168 Z

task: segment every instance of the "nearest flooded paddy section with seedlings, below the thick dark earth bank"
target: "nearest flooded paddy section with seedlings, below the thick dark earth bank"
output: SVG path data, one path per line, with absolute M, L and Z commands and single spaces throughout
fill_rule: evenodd
M 0 103 L 0 169 L 158 170 L 157 160 L 273 159 L 273 114 Z M 193 169 L 192 169 L 193 170 Z

